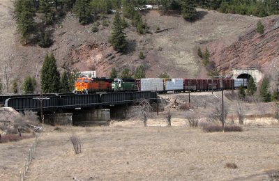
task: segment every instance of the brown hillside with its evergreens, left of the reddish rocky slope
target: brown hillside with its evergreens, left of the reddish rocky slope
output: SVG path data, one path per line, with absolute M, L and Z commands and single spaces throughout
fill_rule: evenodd
M 261 6 L 249 3 L 243 15 L 230 14 L 239 13 L 240 3 L 236 6 L 232 1 L 224 6 L 223 2 L 1 1 L 3 92 L 12 92 L 12 86 L 16 85 L 22 93 L 24 78 L 29 75 L 36 80 L 35 91 L 40 91 L 43 60 L 50 53 L 59 72 L 66 72 L 68 77 L 77 70 L 96 70 L 99 77 L 110 77 L 113 68 L 118 75 L 126 68 L 133 77 L 137 77 L 139 70 L 144 70 L 146 77 L 160 74 L 209 77 L 212 75 L 209 71 L 216 73 L 216 67 L 220 70 L 219 65 L 214 65 L 218 64 L 215 52 L 222 52 L 239 37 L 257 29 L 259 17 L 248 15 L 277 12 L 271 8 L 271 5 L 277 7 L 271 0 Z M 146 4 L 151 4 L 151 8 L 146 8 Z M 116 15 L 119 17 L 115 18 Z M 269 26 L 265 26 L 264 19 L 266 32 Z M 216 44 L 211 42 L 222 46 L 214 47 Z M 199 48 L 202 52 L 208 49 L 206 61 L 197 54 Z M 204 68 L 204 62 L 213 69 Z

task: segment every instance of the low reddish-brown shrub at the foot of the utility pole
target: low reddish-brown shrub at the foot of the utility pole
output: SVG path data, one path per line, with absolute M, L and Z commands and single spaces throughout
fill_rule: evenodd
M 215 124 L 204 124 L 202 125 L 202 130 L 204 132 L 223 132 L 222 125 L 215 125 Z M 243 129 L 240 126 L 236 125 L 229 125 L 225 126 L 225 132 L 242 132 Z

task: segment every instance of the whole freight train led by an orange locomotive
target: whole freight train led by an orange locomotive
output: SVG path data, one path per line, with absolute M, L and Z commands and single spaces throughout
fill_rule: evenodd
M 157 91 L 158 93 L 185 91 L 218 91 L 247 86 L 247 79 L 110 79 L 80 77 L 75 82 L 75 94 L 96 93 L 100 91 Z

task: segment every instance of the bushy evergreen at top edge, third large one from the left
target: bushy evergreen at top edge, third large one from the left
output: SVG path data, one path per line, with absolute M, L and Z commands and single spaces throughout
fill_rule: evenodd
M 77 0 L 75 2 L 75 15 L 78 17 L 80 24 L 89 24 L 91 16 L 91 0 Z

